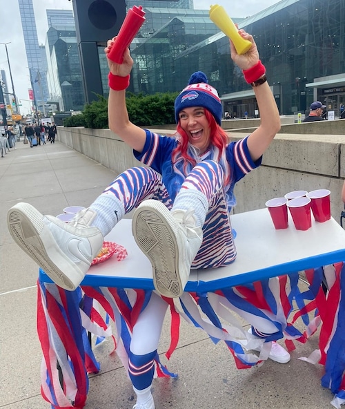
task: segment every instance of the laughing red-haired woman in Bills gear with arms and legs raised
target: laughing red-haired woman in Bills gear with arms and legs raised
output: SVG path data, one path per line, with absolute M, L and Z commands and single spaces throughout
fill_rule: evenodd
M 261 124 L 238 142 L 228 143 L 220 126 L 219 96 L 201 72 L 190 77 L 188 86 L 175 100 L 175 137 L 162 137 L 135 126 L 126 108 L 133 64 L 129 50 L 123 64 L 108 59 L 110 129 L 148 167 L 121 173 L 70 224 L 43 216 L 26 203 L 10 209 L 8 226 L 12 237 L 55 283 L 75 289 L 99 253 L 103 237 L 135 207 L 135 240 L 150 259 L 155 289 L 162 296 L 181 296 L 190 268 L 219 267 L 235 260 L 229 220 L 229 210 L 235 204 L 234 185 L 261 164 L 262 154 L 280 128 L 277 105 L 255 41 L 244 30 L 239 32 L 253 46 L 246 55 L 238 55 L 230 43 L 231 57 L 253 85 Z M 107 55 L 115 41 L 108 41 Z M 152 292 L 132 330 L 128 372 L 137 394 L 137 409 L 155 408 L 150 389 L 167 305 Z M 262 337 L 276 332 L 269 324 L 260 325 L 259 332 L 253 330 Z M 274 345 L 270 357 L 287 362 L 289 354 Z

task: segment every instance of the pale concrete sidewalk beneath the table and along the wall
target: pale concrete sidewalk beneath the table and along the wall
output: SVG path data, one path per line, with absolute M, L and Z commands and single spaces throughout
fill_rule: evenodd
M 88 206 L 115 173 L 63 144 L 31 148 L 17 142 L 0 158 L 0 408 L 48 409 L 40 394 L 41 348 L 36 333 L 38 267 L 14 244 L 6 213 L 17 202 L 30 202 L 57 215 L 68 205 Z M 159 353 L 165 363 L 168 317 Z M 298 360 L 317 348 L 317 337 L 297 345 L 290 363 L 267 361 L 260 368 L 237 370 L 224 343 L 181 322 L 181 336 L 168 368 L 177 379 L 156 379 L 156 409 L 326 409 L 331 391 L 320 385 L 321 365 Z M 135 403 L 130 381 L 112 343 L 96 348 L 101 371 L 90 377 L 86 409 L 129 409 Z

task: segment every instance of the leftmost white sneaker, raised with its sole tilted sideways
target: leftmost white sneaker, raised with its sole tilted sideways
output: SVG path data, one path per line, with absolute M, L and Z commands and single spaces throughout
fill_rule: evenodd
M 8 211 L 8 229 L 17 245 L 64 289 L 73 290 L 83 280 L 92 260 L 99 254 L 103 236 L 89 227 L 96 213 L 79 212 L 70 223 L 43 216 L 28 203 Z

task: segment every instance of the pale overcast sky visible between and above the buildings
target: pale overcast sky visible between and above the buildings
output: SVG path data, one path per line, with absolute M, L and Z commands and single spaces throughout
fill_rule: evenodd
M 6 2 L 6 6 L 3 3 Z M 21 28 L 21 18 L 19 14 L 18 0 L 1 0 L 1 25 L 0 41 L 8 44 L 8 55 L 14 83 L 14 91 L 20 99 L 21 113 L 26 115 L 30 111 L 28 88 L 30 88 L 30 77 L 28 71 L 28 61 L 23 40 L 23 30 Z M 224 6 L 230 17 L 248 17 L 255 13 L 279 3 L 278 0 L 194 0 L 194 8 L 208 10 L 211 4 Z M 138 0 L 138 5 L 140 0 Z M 33 0 L 34 15 L 36 19 L 37 35 L 39 44 L 46 43 L 46 32 L 48 23 L 46 17 L 47 9 L 72 10 L 72 1 L 68 0 Z M 0 44 L 0 68 L 6 70 L 8 90 L 12 92 L 10 73 L 6 57 L 6 47 Z

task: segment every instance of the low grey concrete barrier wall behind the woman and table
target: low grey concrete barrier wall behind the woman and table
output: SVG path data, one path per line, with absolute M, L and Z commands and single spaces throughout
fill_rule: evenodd
M 345 121 L 343 123 L 345 125 Z M 262 166 L 237 183 L 238 204 L 234 212 L 261 209 L 266 200 L 284 196 L 288 191 L 329 189 L 332 216 L 339 221 L 344 208 L 341 192 L 345 178 L 345 136 L 328 135 L 325 131 L 317 135 L 278 134 L 265 153 Z M 172 130 L 157 132 L 173 133 Z M 231 140 L 238 140 L 248 133 L 230 132 L 229 135 Z M 116 175 L 141 165 L 133 157 L 132 150 L 108 129 L 59 127 L 57 138 L 112 169 Z

